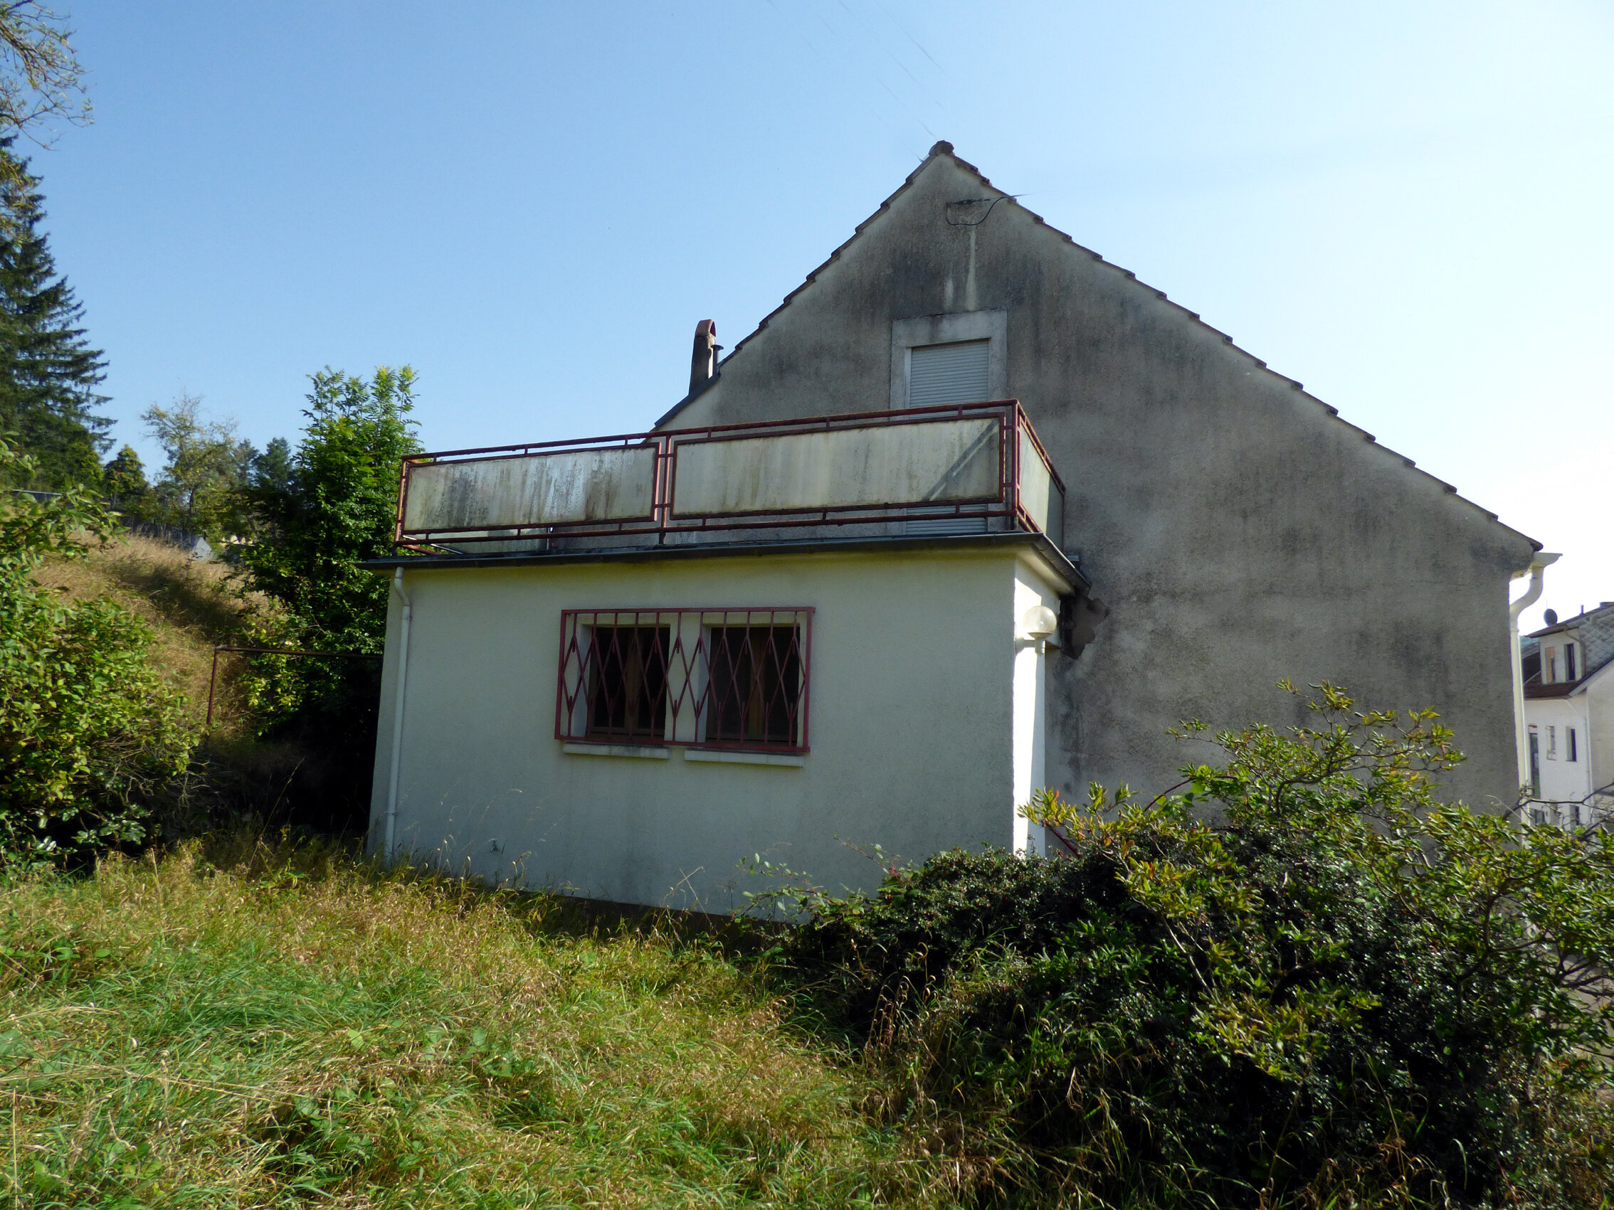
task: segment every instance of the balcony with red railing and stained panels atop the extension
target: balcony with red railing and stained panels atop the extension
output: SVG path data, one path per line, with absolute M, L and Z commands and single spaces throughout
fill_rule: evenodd
M 1065 486 L 1015 400 L 428 453 L 395 539 L 447 552 L 1033 532 Z M 773 532 L 759 532 L 773 531 Z

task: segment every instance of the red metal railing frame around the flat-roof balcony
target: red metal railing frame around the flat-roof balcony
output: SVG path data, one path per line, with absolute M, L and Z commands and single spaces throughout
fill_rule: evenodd
M 751 440 L 768 436 L 794 436 L 857 428 L 899 428 L 944 419 L 997 419 L 997 487 L 991 495 L 967 500 L 891 500 L 876 505 L 828 505 L 810 508 L 725 511 L 721 515 L 688 515 L 675 508 L 678 484 L 678 453 L 697 444 Z M 859 411 L 839 416 L 810 416 L 804 419 L 749 421 L 744 424 L 709 424 L 691 429 L 665 429 L 660 432 L 631 432 L 584 440 L 526 442 L 521 445 L 487 445 L 465 450 L 445 450 L 405 460 L 399 482 L 397 523 L 394 540 L 404 547 L 429 547 L 439 542 L 454 545 L 475 542 L 508 542 L 546 537 L 610 537 L 633 534 L 692 534 L 738 529 L 789 529 L 802 526 L 844 526 L 884 521 L 902 521 L 914 516 L 910 510 L 923 508 L 928 518 L 1004 518 L 1009 524 L 1039 532 L 1041 526 L 1022 499 L 1023 468 L 1020 466 L 1020 437 L 1030 439 L 1031 450 L 1041 460 L 1047 478 L 1057 487 L 1060 499 L 1065 484 L 1059 478 L 1041 439 L 1027 419 L 1018 400 L 986 403 L 947 403 L 899 411 Z M 655 471 L 650 487 L 650 508 L 642 515 L 600 519 L 533 519 L 525 524 L 476 524 L 458 528 L 407 528 L 410 474 L 416 468 L 450 461 L 502 461 L 539 458 L 558 453 L 589 450 L 654 449 Z

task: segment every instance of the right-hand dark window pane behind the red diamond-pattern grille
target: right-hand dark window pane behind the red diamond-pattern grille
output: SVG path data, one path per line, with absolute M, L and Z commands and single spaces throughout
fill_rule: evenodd
M 802 663 L 794 626 L 713 626 L 707 739 L 796 747 Z

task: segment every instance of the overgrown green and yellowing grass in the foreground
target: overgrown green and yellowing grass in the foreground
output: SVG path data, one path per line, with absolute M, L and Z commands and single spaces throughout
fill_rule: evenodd
M 951 1204 L 665 920 L 240 844 L 13 884 L 0 933 L 0 1205 Z

